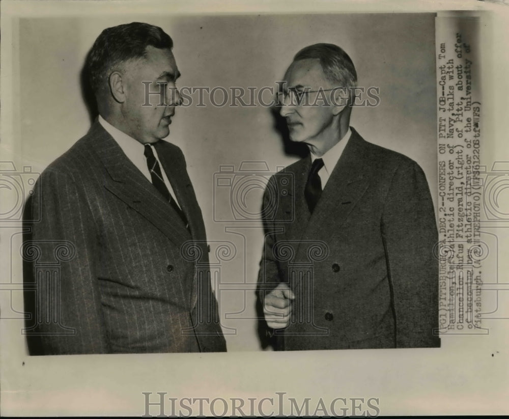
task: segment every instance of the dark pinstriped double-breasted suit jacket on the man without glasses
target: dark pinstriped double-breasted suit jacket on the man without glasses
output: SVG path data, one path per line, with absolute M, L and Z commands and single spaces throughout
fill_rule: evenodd
M 25 208 L 41 218 L 23 252 L 31 354 L 226 350 L 184 156 L 156 149 L 190 232 L 98 121 L 42 173 Z

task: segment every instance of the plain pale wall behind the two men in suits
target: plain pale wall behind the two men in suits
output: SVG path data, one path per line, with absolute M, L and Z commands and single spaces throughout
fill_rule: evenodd
M 367 141 L 416 160 L 435 200 L 432 14 L 21 19 L 19 95 L 14 102 L 19 123 L 13 147 L 23 165 L 41 172 L 87 132 L 91 119 L 80 89 L 84 58 L 103 29 L 131 21 L 161 26 L 173 38 L 182 73 L 179 87 L 275 87 L 302 47 L 317 42 L 341 46 L 356 66 L 358 85 L 380 88 L 379 106 L 355 108 L 351 125 Z M 215 97 L 221 101 L 222 95 Z M 260 350 L 253 292 L 263 240 L 256 216 L 260 185 L 277 167 L 298 157 L 285 152 L 270 108 L 216 107 L 207 96 L 204 103 L 176 110 L 167 141 L 182 148 L 204 214 L 211 261 L 220 271 L 218 299 L 228 349 Z M 240 170 L 243 162 L 243 169 L 250 170 Z M 224 186 L 228 181 L 231 186 Z M 245 203 L 238 200 L 242 192 Z M 220 244 L 230 255 L 214 260 Z

